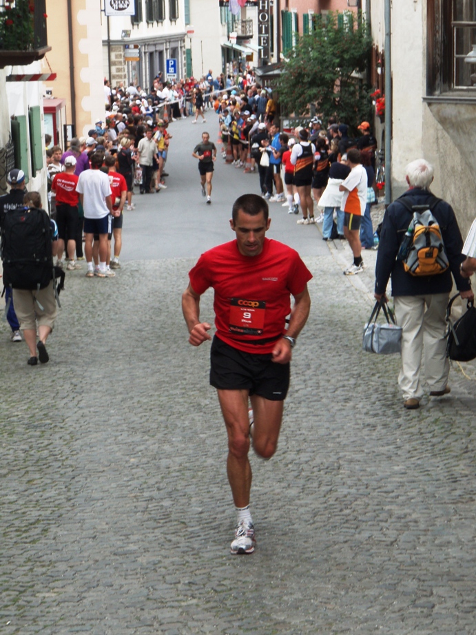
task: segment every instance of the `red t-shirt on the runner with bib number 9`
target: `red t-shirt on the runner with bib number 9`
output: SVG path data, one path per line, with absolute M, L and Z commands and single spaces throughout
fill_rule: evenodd
M 312 275 L 297 251 L 265 238 L 259 256 L 242 256 L 236 240 L 205 251 L 189 278 L 199 295 L 214 289 L 220 340 L 245 353 L 272 353 L 286 331 L 290 295 L 302 293 Z

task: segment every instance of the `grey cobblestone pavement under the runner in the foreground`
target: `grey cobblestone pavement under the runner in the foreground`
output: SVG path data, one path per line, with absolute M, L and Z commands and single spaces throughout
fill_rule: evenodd
M 454 368 L 404 410 L 397 358 L 361 350 L 375 252 L 353 278 L 346 244 L 322 254 L 278 452 L 251 458 L 251 556 L 229 554 L 209 346 L 180 313 L 195 258 L 68 272 L 45 366 L 3 322 L 2 634 L 476 632 L 475 384 Z

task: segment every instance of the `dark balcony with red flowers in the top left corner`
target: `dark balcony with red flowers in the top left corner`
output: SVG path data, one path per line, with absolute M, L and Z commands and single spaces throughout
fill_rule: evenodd
M 27 65 L 51 50 L 46 0 L 0 0 L 0 68 Z

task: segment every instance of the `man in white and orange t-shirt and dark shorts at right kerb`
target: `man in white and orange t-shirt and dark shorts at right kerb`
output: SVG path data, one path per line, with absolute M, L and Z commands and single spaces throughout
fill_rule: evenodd
M 347 152 L 347 165 L 351 174 L 339 185 L 344 192 L 341 209 L 344 212 L 344 236 L 349 240 L 353 253 L 353 263 L 344 275 L 362 273 L 365 268 L 360 242 L 360 222 L 367 204 L 367 173 L 361 163 L 360 151 L 353 148 Z

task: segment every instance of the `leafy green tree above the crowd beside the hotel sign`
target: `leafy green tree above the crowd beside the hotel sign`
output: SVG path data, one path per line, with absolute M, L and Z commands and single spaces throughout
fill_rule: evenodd
M 362 15 L 314 16 L 311 34 L 299 38 L 276 81 L 282 112 L 303 116 L 315 103 L 324 118 L 337 116 L 353 127 L 369 119 L 370 90 L 356 74 L 366 70 L 371 48 Z

